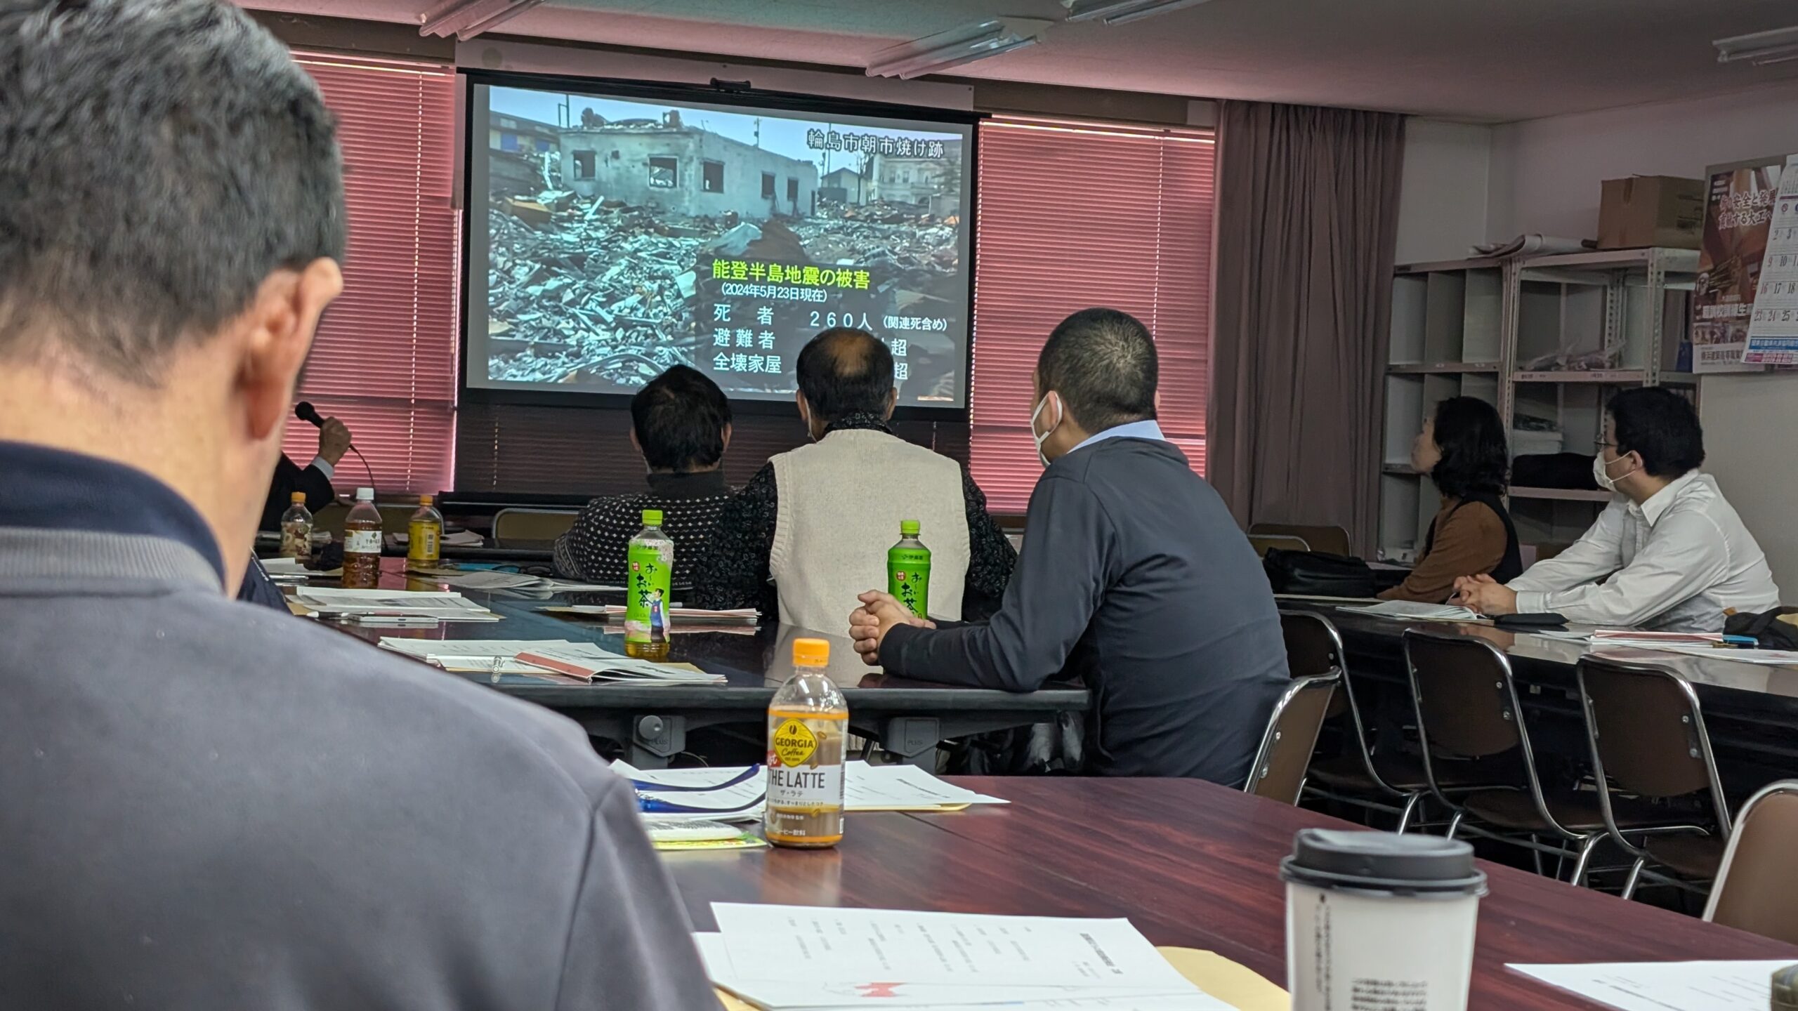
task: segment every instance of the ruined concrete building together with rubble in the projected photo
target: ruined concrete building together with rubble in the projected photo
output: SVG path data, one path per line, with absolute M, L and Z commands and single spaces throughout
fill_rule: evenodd
M 538 171 L 489 180 L 491 380 L 629 392 L 671 365 L 708 369 L 717 304 L 734 299 L 716 261 L 854 266 L 872 279 L 867 290 L 832 290 L 829 304 L 762 306 L 773 318 L 753 331 L 755 351 L 780 367 L 730 376 L 732 390 L 791 389 L 798 347 L 823 326 L 814 317 L 850 302 L 870 329 L 888 315 L 966 308 L 957 212 L 933 214 L 930 198 L 876 201 L 870 183 L 854 203 L 834 200 L 820 192 L 816 162 L 685 126 L 674 110 L 611 122 L 584 110 L 552 151 L 500 153 Z M 750 304 L 741 311 L 757 315 Z M 744 333 L 732 329 L 732 342 Z M 955 342 L 904 336 L 910 383 L 953 392 L 964 367 Z

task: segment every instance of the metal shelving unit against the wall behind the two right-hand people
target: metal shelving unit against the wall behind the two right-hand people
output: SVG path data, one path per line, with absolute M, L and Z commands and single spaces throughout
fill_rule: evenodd
M 1620 390 L 1692 383 L 1679 351 L 1690 326 L 1696 250 L 1645 248 L 1523 259 L 1464 259 L 1393 270 L 1379 475 L 1379 554 L 1410 561 L 1440 495 L 1411 471 L 1424 414 L 1476 396 L 1516 434 L 1595 453 L 1604 405 Z M 1688 365 L 1687 365 L 1688 367 Z M 1696 390 L 1696 387 L 1694 387 Z M 1516 435 L 1512 452 L 1518 450 Z M 1512 488 L 1525 543 L 1577 538 L 1609 497 L 1589 489 Z

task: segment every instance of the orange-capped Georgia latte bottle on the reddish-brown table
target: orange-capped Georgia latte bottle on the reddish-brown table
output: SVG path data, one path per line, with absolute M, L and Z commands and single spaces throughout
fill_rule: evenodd
M 825 675 L 831 644 L 793 640 L 793 676 L 768 705 L 768 802 L 762 835 L 822 849 L 843 840 L 843 747 L 849 703 Z

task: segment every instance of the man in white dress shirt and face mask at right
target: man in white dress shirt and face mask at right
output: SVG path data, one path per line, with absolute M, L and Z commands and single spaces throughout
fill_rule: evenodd
M 1606 407 L 1593 479 L 1616 498 L 1573 547 L 1510 583 L 1455 581 L 1455 603 L 1487 615 L 1557 612 L 1579 624 L 1719 631 L 1724 610 L 1780 603 L 1767 558 L 1699 473 L 1705 432 L 1667 389 L 1624 390 Z

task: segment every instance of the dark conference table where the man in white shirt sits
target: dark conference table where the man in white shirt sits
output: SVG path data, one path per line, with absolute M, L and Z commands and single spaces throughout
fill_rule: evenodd
M 1573 669 L 1589 649 L 1586 642 L 1510 631 L 1489 621 L 1406 622 L 1345 612 L 1341 604 L 1329 601 L 1282 597 L 1278 603 L 1282 610 L 1307 610 L 1329 619 L 1341 631 L 1348 671 L 1357 682 L 1384 682 L 1406 694 L 1410 693 L 1404 673 L 1408 628 L 1492 642 L 1510 658 L 1512 673 L 1527 693 L 1525 705 L 1532 709 L 1532 720 L 1559 720 L 1564 725 L 1584 727 Z M 1661 649 L 1606 649 L 1606 653 L 1667 667 L 1692 684 L 1731 795 L 1753 792 L 1773 779 L 1798 775 L 1798 666 L 1744 664 Z M 1584 730 L 1580 729 L 1575 738 L 1579 752 L 1584 754 Z

